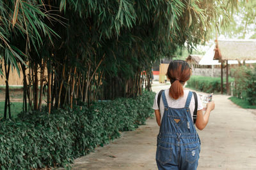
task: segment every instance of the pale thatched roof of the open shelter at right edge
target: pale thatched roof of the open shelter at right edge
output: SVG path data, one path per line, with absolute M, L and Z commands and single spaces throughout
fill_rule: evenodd
M 214 59 L 256 60 L 256 39 L 218 40 Z

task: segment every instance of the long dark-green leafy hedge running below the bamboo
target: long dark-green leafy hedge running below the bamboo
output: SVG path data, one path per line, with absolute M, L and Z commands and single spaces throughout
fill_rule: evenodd
M 34 111 L 0 124 L 0 169 L 69 168 L 72 161 L 131 131 L 153 113 L 155 94 L 98 102 L 88 109 Z

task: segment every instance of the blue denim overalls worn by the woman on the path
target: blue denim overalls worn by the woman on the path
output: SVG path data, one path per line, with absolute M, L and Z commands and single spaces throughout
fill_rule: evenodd
M 158 169 L 188 169 L 198 166 L 200 139 L 189 111 L 192 92 L 184 108 L 169 108 L 162 93 L 164 115 L 157 136 L 156 162 Z

